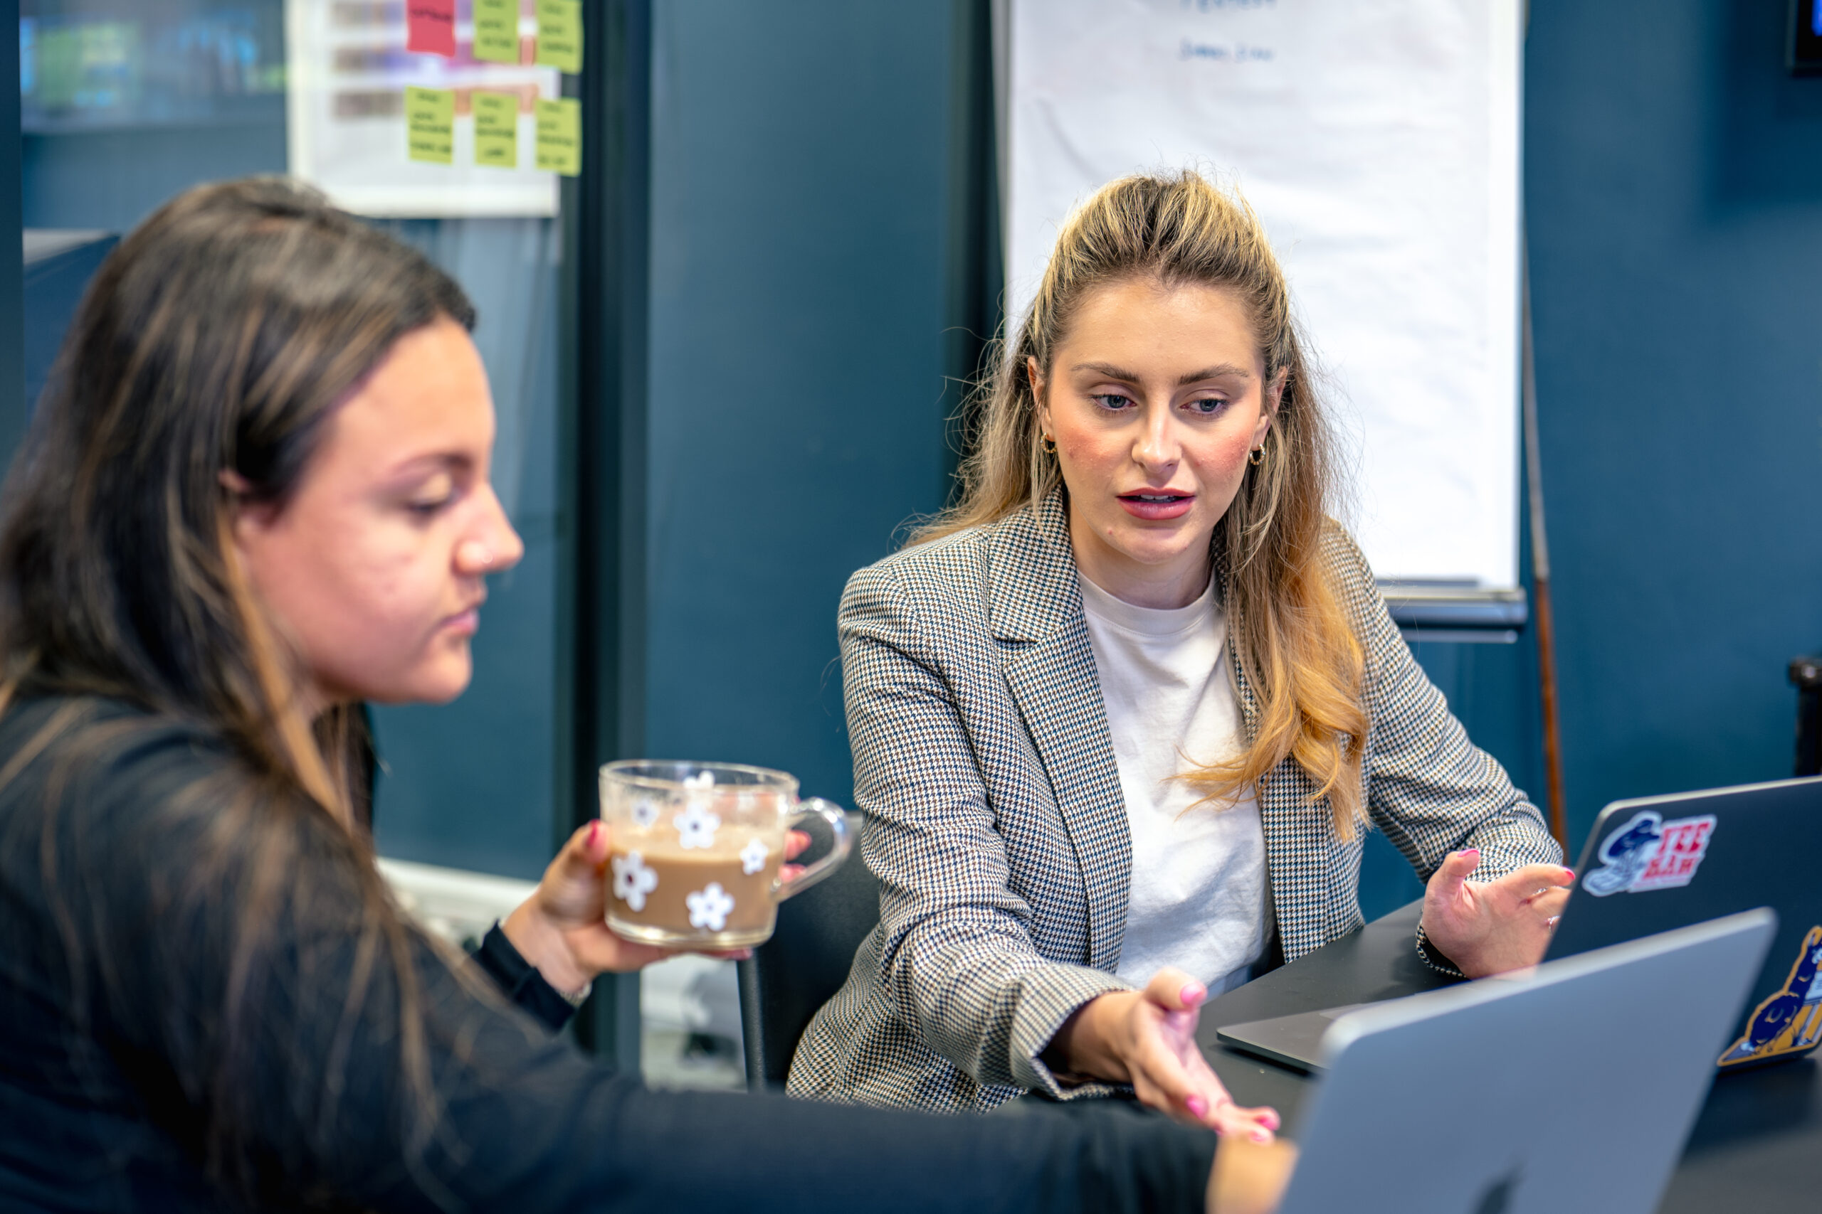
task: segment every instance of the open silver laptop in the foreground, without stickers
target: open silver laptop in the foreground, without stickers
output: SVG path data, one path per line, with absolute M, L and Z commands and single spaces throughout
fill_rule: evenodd
M 1751 910 L 1337 1017 L 1279 1214 L 1658 1209 L 1775 930 Z

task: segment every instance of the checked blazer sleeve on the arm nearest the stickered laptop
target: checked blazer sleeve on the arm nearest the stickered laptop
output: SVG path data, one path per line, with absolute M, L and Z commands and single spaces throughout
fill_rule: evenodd
M 1412 657 L 1392 622 L 1359 548 L 1332 530 L 1330 568 L 1345 586 L 1366 657 L 1372 733 L 1366 744 L 1366 808 L 1425 881 L 1450 852 L 1479 848 L 1476 879 L 1525 865 L 1560 865 L 1563 850 L 1543 814 L 1512 786 L 1498 759 L 1469 741 L 1448 703 Z M 1418 930 L 1425 961 L 1459 970 Z

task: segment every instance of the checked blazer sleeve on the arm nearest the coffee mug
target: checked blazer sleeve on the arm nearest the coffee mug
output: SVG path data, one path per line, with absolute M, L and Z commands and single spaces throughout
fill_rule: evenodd
M 1079 1007 L 1130 985 L 1049 961 L 1013 890 L 978 755 L 949 672 L 891 566 L 842 595 L 842 679 L 855 752 L 860 848 L 880 879 L 880 981 L 922 1039 L 982 1085 L 1053 1099 L 1117 1088 L 1073 1083 L 1042 1052 Z

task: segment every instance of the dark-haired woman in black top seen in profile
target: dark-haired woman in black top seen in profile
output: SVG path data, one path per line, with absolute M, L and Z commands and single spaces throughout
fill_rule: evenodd
M 603 925 L 599 825 L 477 965 L 397 914 L 359 704 L 457 695 L 521 551 L 472 322 L 277 180 L 177 198 L 84 298 L 0 519 L 0 1207 L 1201 1209 L 1213 1138 L 1162 1118 L 587 1061 L 570 1003 L 660 956 Z

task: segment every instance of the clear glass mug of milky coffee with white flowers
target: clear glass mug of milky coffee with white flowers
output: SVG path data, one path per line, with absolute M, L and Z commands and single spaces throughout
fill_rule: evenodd
M 778 903 L 847 859 L 842 808 L 798 801 L 796 777 L 734 763 L 621 759 L 601 768 L 601 821 L 612 828 L 607 926 L 670 948 L 745 948 L 773 934 Z M 778 879 L 785 830 L 820 817 L 834 848 Z

